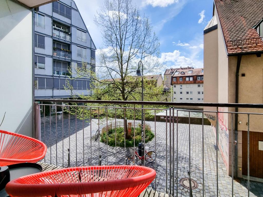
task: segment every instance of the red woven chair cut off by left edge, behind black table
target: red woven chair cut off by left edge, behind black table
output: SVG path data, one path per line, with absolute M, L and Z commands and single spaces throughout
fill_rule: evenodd
M 35 163 L 44 158 L 47 146 L 34 138 L 0 130 L 0 166 Z

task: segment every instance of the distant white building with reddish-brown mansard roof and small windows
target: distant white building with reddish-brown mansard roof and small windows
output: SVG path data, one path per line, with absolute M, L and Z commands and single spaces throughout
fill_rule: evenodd
M 204 69 L 176 70 L 171 79 L 172 102 L 204 101 Z

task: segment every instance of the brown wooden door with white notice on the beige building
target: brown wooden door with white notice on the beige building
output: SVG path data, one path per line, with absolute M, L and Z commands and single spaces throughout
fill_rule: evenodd
M 249 174 L 251 177 L 263 178 L 263 151 L 259 150 L 263 133 L 250 131 L 249 139 Z M 242 131 L 242 174 L 247 175 L 247 131 Z

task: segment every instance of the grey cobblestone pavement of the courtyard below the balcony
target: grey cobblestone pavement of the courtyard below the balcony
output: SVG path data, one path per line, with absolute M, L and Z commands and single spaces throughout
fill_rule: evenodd
M 168 133 L 166 137 L 165 122 L 156 122 L 156 127 L 154 122 L 146 122 L 151 125 L 151 130 L 156 133 L 155 138 L 151 142 L 148 142 L 146 146 L 149 147 L 150 150 L 155 150 L 157 154 L 156 162 L 145 163 L 145 166 L 154 168 L 156 170 L 156 179 L 150 184 L 149 189 L 154 189 L 160 192 L 169 191 L 171 186 L 173 185 L 172 182 L 170 183 L 171 177 L 171 180 L 174 179 L 174 196 L 176 196 L 176 132 L 174 136 L 174 173 L 172 173 L 172 168 L 170 172 L 169 157 L 169 123 L 167 125 Z M 45 125 L 42 124 L 41 138 L 42 141 L 45 142 L 48 146 L 44 162 L 68 167 L 68 148 L 70 148 L 70 166 L 72 167 L 76 165 L 98 165 L 99 155 L 102 155 L 102 165 L 124 164 L 130 152 L 133 152 L 133 147 L 124 149 L 123 147 L 110 147 L 107 146 L 105 143 L 95 142 L 95 133 L 98 127 L 99 125 L 96 119 L 92 120 L 91 126 L 89 120 L 85 120 L 83 122 L 82 120 L 75 120 L 73 118 L 70 119 L 69 122 L 69 120 L 66 119 L 63 121 L 63 124 L 62 120 L 60 120 L 57 122 L 57 130 L 54 122 L 51 123 L 51 125 L 49 124 L 49 122 L 45 123 Z M 202 165 L 202 125 L 190 125 L 190 133 L 191 178 L 196 181 L 196 189 L 193 190 L 193 196 L 203 196 L 203 171 L 204 196 L 216 196 L 216 150 L 213 146 L 214 144 L 216 144 L 216 139 L 213 134 L 212 128 L 211 126 L 204 126 L 204 170 Z M 232 180 L 231 177 L 229 177 L 226 173 L 226 168 L 219 151 L 218 155 L 218 196 L 231 196 Z M 173 158 L 171 158 L 171 161 L 172 167 Z M 139 163 L 140 162 L 138 161 L 137 164 Z M 189 125 L 178 124 L 178 196 L 189 196 L 189 189 L 184 188 L 179 183 L 181 178 L 188 177 L 188 170 Z M 247 184 L 245 181 L 242 181 L 241 184 L 235 181 L 234 196 L 247 196 L 246 185 Z M 250 188 L 250 196 L 263 197 L 262 184 L 251 182 Z

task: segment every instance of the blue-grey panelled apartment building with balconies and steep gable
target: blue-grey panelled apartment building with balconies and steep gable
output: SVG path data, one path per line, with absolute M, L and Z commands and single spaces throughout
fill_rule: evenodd
M 75 2 L 61 0 L 40 6 L 34 23 L 35 98 L 89 95 L 88 77 L 69 79 L 77 76 L 77 70 L 95 69 L 96 47 Z M 74 92 L 65 90 L 70 86 Z

